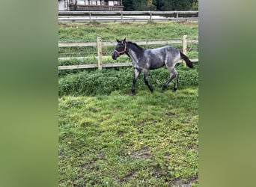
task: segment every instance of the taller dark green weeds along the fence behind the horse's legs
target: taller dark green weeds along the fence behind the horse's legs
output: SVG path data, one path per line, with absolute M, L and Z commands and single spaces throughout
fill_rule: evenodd
M 198 85 L 198 64 L 194 69 L 177 67 L 179 73 L 178 88 L 189 85 Z M 58 95 L 91 96 L 112 93 L 112 91 L 130 92 L 133 79 L 133 67 L 103 68 L 103 70 L 77 70 L 76 73 L 67 73 L 60 76 L 58 81 Z M 151 70 L 150 85 L 154 90 L 160 90 L 168 79 L 166 68 Z M 173 81 L 167 89 L 173 88 Z M 138 77 L 136 91 L 148 89 L 144 85 L 143 73 Z

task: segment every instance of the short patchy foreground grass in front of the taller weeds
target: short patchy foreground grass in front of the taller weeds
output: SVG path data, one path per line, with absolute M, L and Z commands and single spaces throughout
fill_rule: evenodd
M 198 186 L 198 87 L 61 96 L 59 186 Z

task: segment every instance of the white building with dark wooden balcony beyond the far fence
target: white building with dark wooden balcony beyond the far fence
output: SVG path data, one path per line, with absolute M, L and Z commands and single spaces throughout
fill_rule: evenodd
M 59 0 L 58 10 L 120 11 L 122 0 Z

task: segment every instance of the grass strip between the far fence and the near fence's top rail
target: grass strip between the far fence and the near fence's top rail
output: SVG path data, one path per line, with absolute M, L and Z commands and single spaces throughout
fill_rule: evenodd
M 183 35 L 198 38 L 198 22 L 150 23 L 59 23 L 59 42 L 103 41 L 115 42 L 115 38 L 127 40 L 177 40 Z

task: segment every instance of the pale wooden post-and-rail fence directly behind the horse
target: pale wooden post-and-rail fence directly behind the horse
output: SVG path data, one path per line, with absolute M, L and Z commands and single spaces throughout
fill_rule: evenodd
M 187 36 L 183 36 L 183 40 L 161 40 L 161 41 L 141 41 L 137 42 L 138 45 L 157 45 L 157 44 L 182 44 L 183 53 L 187 53 L 188 43 L 198 43 L 198 40 L 188 40 Z M 103 67 L 129 67 L 132 63 L 110 63 L 103 64 L 103 46 L 116 46 L 116 43 L 102 42 L 101 37 L 97 37 L 97 42 L 91 43 L 58 43 L 58 47 L 81 47 L 81 46 L 97 46 L 97 64 L 82 64 L 82 65 L 70 65 L 70 66 L 58 66 L 58 70 L 74 70 L 74 69 L 86 69 L 86 68 L 98 68 L 102 70 Z M 114 50 L 113 50 L 114 51 Z M 72 57 L 74 58 L 74 57 Z M 76 57 L 75 57 L 76 58 Z M 77 57 L 81 58 L 81 57 Z M 67 58 L 58 58 L 59 60 Z M 198 59 L 191 59 L 191 61 L 198 61 Z

